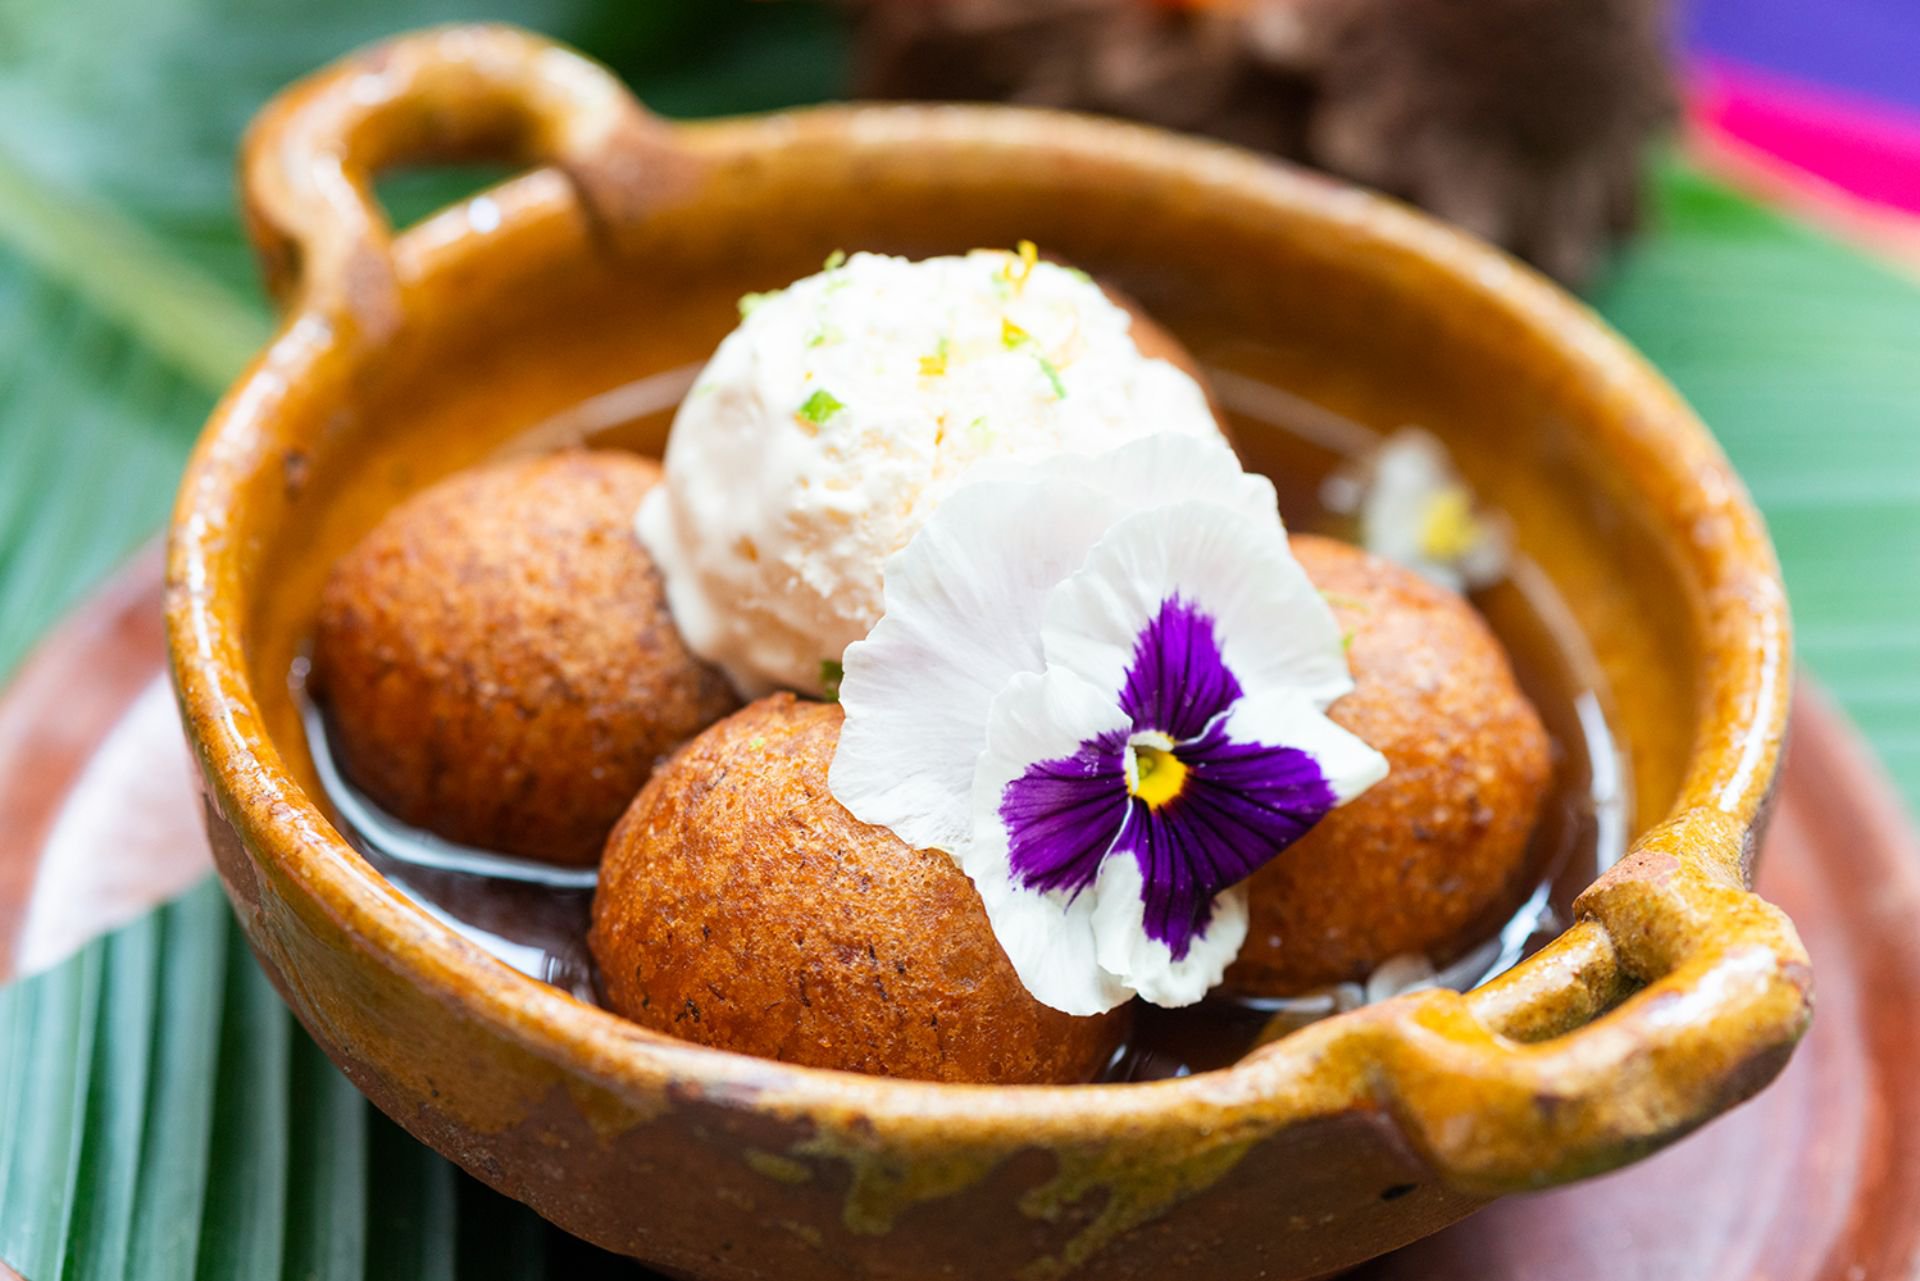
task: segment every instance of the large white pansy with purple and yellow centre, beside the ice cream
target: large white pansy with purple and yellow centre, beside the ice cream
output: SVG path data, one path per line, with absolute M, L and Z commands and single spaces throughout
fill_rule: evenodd
M 1273 486 L 1150 436 L 968 484 L 887 561 L 829 782 L 960 862 L 1046 1004 L 1190 1004 L 1242 882 L 1386 774 L 1350 688 Z

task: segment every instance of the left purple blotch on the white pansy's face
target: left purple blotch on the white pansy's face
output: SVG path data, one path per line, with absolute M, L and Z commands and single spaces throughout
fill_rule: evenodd
M 1071 757 L 1041 761 L 1006 786 L 1008 860 L 1027 889 L 1079 893 L 1127 826 L 1127 739 L 1102 734 Z

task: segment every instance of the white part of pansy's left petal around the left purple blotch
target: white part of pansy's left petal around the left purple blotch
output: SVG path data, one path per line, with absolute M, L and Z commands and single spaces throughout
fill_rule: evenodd
M 1127 728 L 1125 713 L 1112 699 L 1069 672 L 1023 672 L 993 701 L 987 751 L 973 776 L 973 839 L 960 866 L 979 889 L 993 933 L 1020 981 L 1037 1001 L 1068 1014 L 1112 1010 L 1125 1004 L 1133 989 L 1100 968 L 1094 937 L 1098 883 L 1077 895 L 1020 885 L 1000 803 L 1006 786 L 1029 766 L 1071 757 L 1083 741 Z M 1123 860 L 1108 858 L 1104 866 L 1114 862 Z M 1100 883 L 1106 880 L 1104 866 Z

